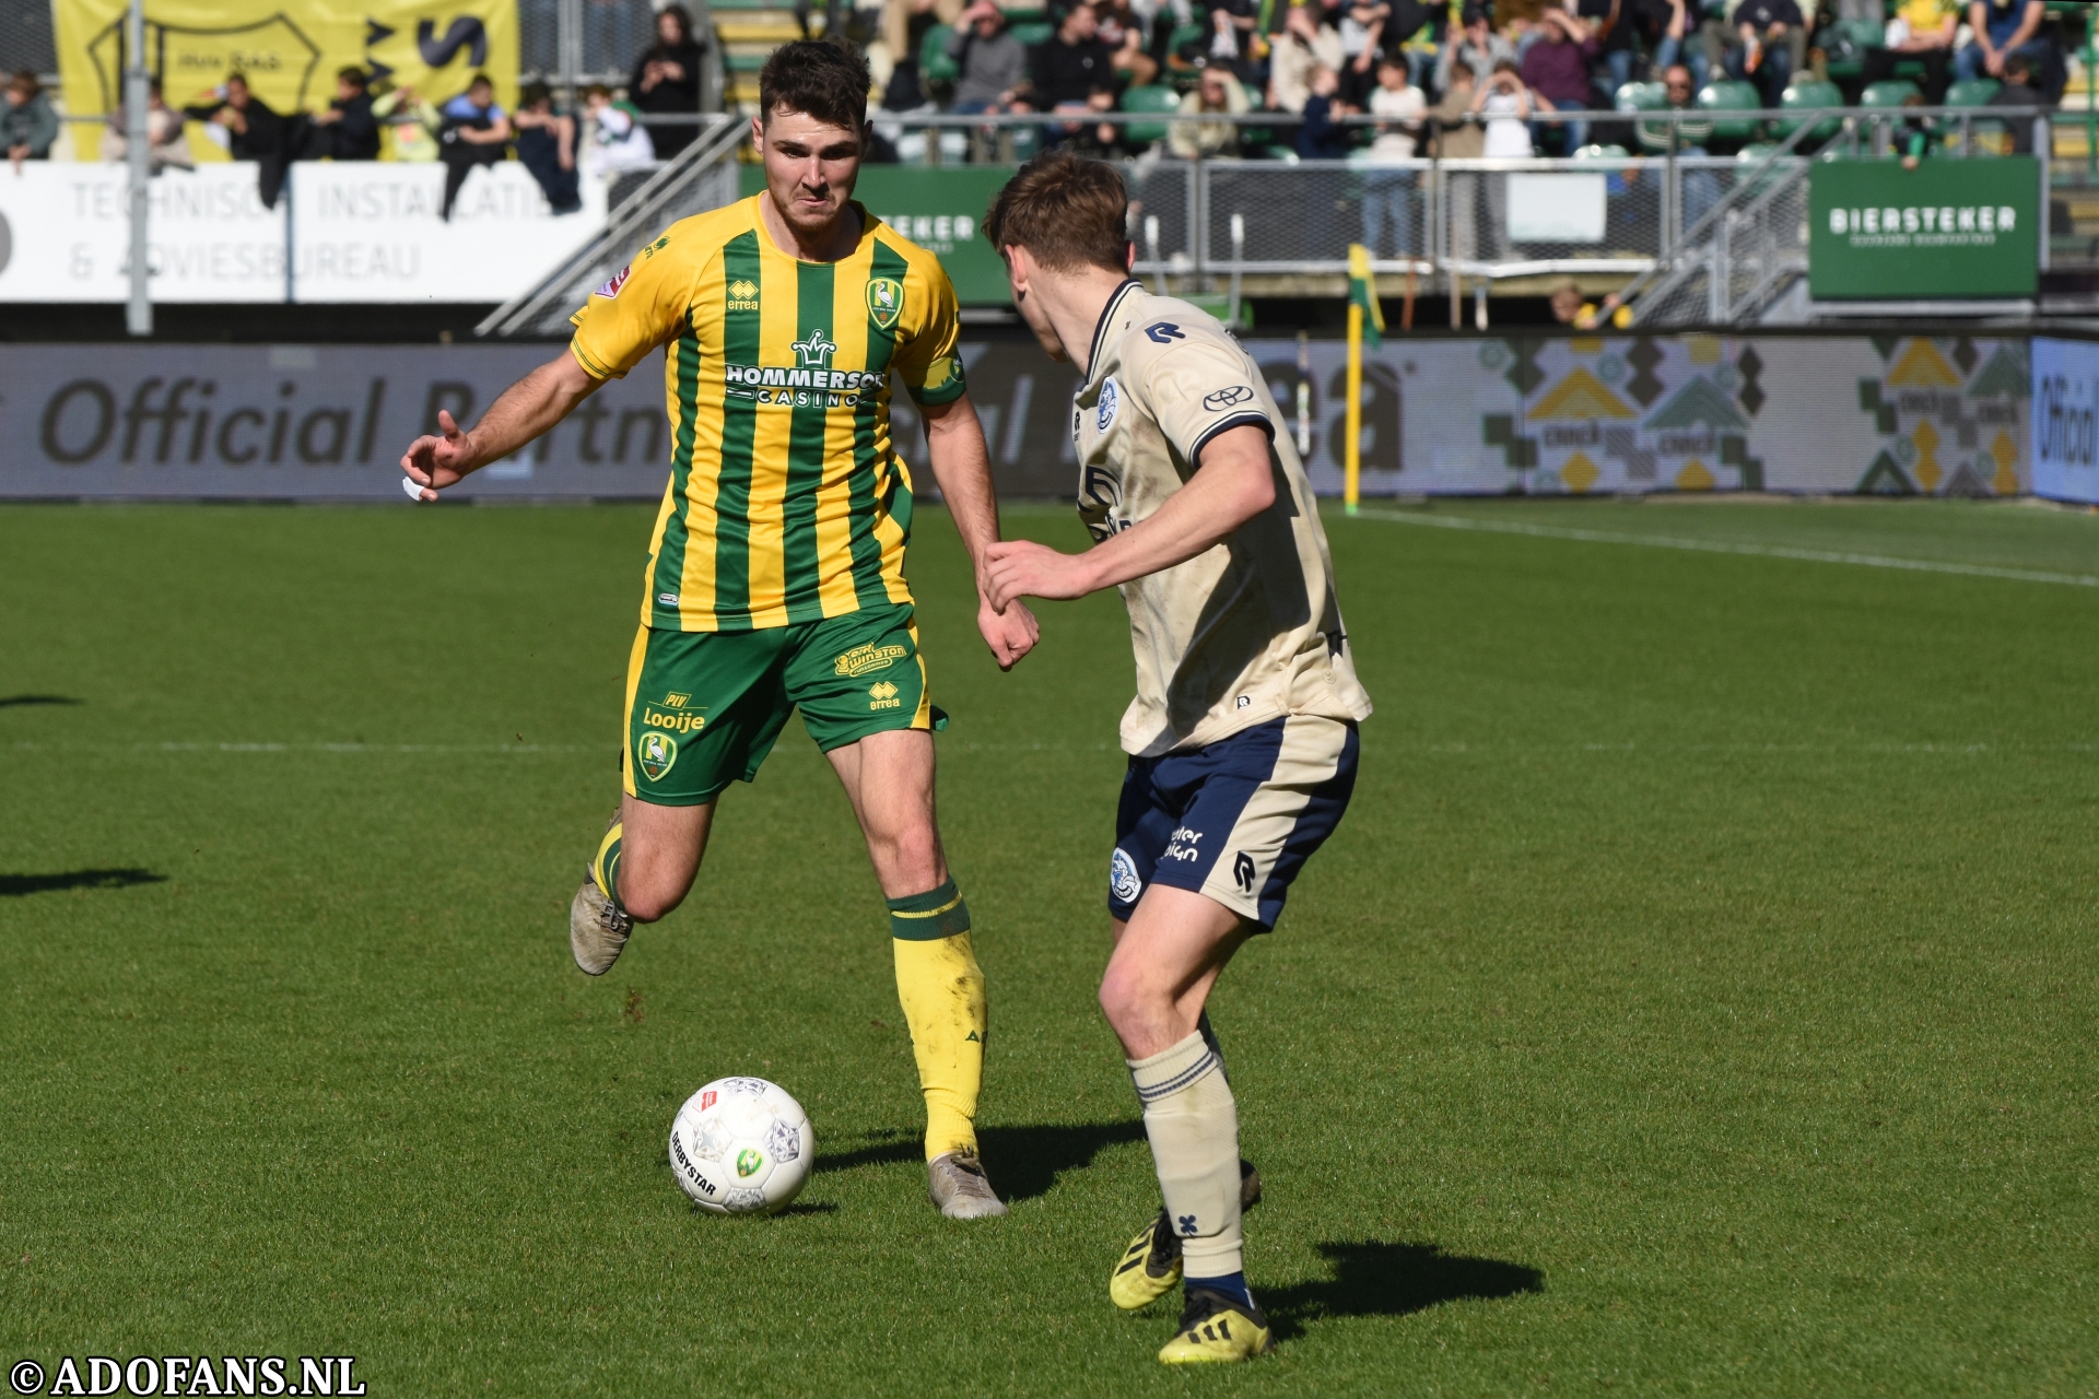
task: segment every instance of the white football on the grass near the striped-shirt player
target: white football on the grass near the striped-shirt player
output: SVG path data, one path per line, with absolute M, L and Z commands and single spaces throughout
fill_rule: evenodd
M 770 1214 L 802 1193 L 817 1133 L 764 1078 L 716 1078 L 670 1124 L 670 1168 L 709 1214 Z

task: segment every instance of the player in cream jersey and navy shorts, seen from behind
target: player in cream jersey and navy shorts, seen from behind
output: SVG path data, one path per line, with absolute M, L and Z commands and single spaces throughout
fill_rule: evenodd
M 1096 539 L 1085 554 L 995 543 L 987 577 L 993 606 L 1100 587 L 1129 606 L 1138 696 L 1100 1005 L 1165 1208 L 1108 1294 L 1136 1309 L 1184 1282 L 1159 1359 L 1236 1361 L 1270 1332 L 1241 1263 L 1238 1110 L 1203 1005 L 1348 810 L 1371 698 L 1280 409 L 1217 321 L 1129 279 L 1125 218 L 1110 166 L 1052 153 L 984 220 L 1022 319 L 1079 367 L 1079 514 Z

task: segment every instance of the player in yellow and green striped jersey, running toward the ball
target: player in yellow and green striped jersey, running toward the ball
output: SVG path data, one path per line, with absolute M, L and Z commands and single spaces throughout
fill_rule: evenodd
M 775 50 L 751 124 L 766 189 L 672 224 L 590 296 L 567 352 L 472 432 L 443 417 L 443 436 L 418 438 L 401 466 L 437 499 L 667 346 L 672 478 L 628 663 L 626 795 L 575 894 L 569 946 L 602 975 L 634 923 L 684 900 L 722 791 L 756 778 L 800 709 L 888 898 L 926 1095 L 928 1193 L 942 1214 L 974 1219 L 1005 1212 L 976 1156 L 984 975 L 934 824 L 930 730 L 945 715 L 903 577 L 911 478 L 890 445 L 890 375 L 924 411 L 980 594 L 999 518 L 955 348 L 955 292 L 932 254 L 850 199 L 867 86 L 854 50 Z M 1024 608 L 980 598 L 978 629 L 1001 667 L 1035 644 Z

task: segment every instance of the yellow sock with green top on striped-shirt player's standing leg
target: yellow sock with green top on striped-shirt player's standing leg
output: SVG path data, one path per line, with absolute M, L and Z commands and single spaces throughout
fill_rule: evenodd
M 984 971 L 970 946 L 970 908 L 955 881 L 890 900 L 896 1000 L 926 1093 L 926 1160 L 976 1152 L 976 1095 L 984 1086 Z

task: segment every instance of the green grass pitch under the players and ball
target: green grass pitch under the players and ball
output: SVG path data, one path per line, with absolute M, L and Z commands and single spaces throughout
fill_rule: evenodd
M 1094 1007 L 1112 596 L 1041 608 L 999 675 L 919 520 L 1014 1204 L 970 1227 L 924 1202 L 882 900 L 798 728 L 686 906 L 602 982 L 569 963 L 651 510 L 0 510 L 0 1361 L 346 1353 L 374 1397 L 2093 1393 L 2099 520 L 1373 510 L 1402 518 L 1329 520 L 1379 707 L 1354 810 L 1215 1000 L 1282 1336 L 1230 1374 L 1161 1372 L 1173 1313 L 1106 1300 L 1157 1200 Z M 728 1072 L 814 1118 L 791 1214 L 701 1217 L 670 1175 Z

